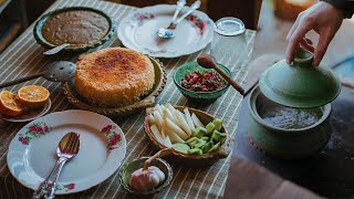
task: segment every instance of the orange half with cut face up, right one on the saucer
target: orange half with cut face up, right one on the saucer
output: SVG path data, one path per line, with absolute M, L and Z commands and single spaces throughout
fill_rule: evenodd
M 49 91 L 40 85 L 28 85 L 18 91 L 20 102 L 31 108 L 44 106 L 49 98 Z

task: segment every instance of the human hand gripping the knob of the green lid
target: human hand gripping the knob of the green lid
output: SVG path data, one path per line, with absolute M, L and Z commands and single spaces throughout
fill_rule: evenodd
M 314 50 L 313 65 L 319 65 L 343 19 L 344 14 L 340 9 L 324 1 L 320 1 L 301 12 L 287 36 L 289 42 L 287 63 L 290 64 L 292 62 L 295 50 L 300 45 L 310 51 Z M 319 44 L 315 49 L 313 49 L 312 42 L 305 39 L 305 34 L 311 30 L 314 30 L 320 35 Z

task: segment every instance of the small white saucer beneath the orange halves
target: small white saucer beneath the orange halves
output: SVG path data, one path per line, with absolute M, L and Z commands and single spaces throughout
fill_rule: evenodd
M 49 98 L 45 105 L 42 107 L 30 109 L 17 117 L 9 117 L 0 114 L 0 118 L 11 123 L 24 123 L 24 122 L 33 121 L 38 117 L 43 116 L 50 111 L 51 106 L 52 106 L 52 101 Z

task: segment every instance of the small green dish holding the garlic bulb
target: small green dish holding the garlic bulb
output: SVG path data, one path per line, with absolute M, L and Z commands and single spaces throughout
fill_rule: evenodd
M 165 181 L 162 185 L 159 185 L 158 187 L 154 188 L 153 190 L 143 191 L 143 192 L 134 190 L 129 186 L 129 179 L 131 179 L 132 172 L 134 172 L 135 170 L 137 170 L 139 168 L 143 168 L 144 163 L 147 159 L 148 159 L 148 157 L 142 157 L 139 159 L 134 159 L 133 161 L 126 164 L 119 170 L 119 182 L 127 191 L 129 191 L 132 193 L 136 193 L 136 195 L 153 195 L 153 193 L 156 193 L 156 192 L 163 190 L 165 187 L 167 187 L 170 184 L 173 176 L 174 176 L 173 168 L 164 159 L 156 158 L 155 160 L 153 160 L 152 166 L 158 167 L 165 174 L 165 177 L 166 177 Z

